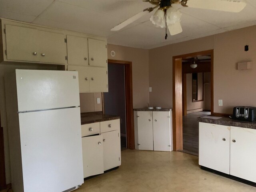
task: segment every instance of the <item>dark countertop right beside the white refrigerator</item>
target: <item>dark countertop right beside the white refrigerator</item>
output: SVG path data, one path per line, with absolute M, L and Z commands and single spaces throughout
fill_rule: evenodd
M 81 125 L 115 119 L 120 119 L 120 117 L 102 113 L 81 113 Z

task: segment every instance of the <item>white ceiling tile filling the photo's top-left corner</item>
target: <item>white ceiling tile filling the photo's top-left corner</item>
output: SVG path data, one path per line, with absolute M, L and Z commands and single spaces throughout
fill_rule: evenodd
M 38 16 L 54 0 L 0 0 L 2 10 Z

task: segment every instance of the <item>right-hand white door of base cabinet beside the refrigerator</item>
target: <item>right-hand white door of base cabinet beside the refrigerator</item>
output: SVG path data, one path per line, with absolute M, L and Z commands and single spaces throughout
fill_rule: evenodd
M 120 130 L 101 133 L 103 136 L 104 171 L 121 165 Z

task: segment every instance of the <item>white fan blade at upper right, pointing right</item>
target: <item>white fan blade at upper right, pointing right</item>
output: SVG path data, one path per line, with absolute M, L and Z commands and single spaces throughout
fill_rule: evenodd
M 239 0 L 188 0 L 188 7 L 238 13 L 246 6 Z

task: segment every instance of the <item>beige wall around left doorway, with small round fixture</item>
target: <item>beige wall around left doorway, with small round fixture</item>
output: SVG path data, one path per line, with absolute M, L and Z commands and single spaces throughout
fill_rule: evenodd
M 112 57 L 110 51 L 116 56 Z M 132 62 L 133 108 L 146 107 L 148 94 L 148 50 L 108 44 L 108 59 Z

